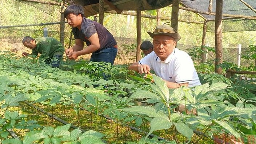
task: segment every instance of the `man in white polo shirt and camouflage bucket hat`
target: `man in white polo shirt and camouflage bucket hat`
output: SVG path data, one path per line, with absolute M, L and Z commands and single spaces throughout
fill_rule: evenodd
M 166 81 L 168 88 L 201 85 L 191 57 L 175 48 L 177 41 L 181 39 L 179 33 L 175 33 L 168 25 L 159 25 L 154 32 L 148 31 L 148 34 L 153 38 L 154 51 L 133 63 L 129 70 L 143 74 L 152 69 Z

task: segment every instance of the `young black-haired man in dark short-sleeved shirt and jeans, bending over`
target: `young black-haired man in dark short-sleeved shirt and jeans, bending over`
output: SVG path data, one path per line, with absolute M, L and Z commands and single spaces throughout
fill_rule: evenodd
M 92 53 L 90 61 L 114 64 L 117 43 L 103 25 L 85 18 L 84 9 L 80 5 L 69 5 L 64 11 L 64 17 L 72 27 L 75 38 L 75 45 L 65 51 L 69 59 Z M 84 42 L 87 48 L 84 48 Z

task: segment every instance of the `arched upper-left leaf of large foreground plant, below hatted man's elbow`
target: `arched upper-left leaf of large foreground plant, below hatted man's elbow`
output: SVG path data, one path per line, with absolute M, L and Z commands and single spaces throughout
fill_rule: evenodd
M 144 98 L 155 98 L 160 100 L 161 98 L 159 96 L 157 96 L 155 93 L 149 92 L 149 91 L 144 91 L 144 90 L 140 90 L 140 91 L 135 91 L 134 93 L 132 93 L 131 97 L 129 97 L 129 99 L 144 99 Z

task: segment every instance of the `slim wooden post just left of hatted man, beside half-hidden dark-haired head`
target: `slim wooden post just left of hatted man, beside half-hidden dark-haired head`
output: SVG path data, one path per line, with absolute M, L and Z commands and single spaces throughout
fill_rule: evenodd
M 137 12 L 137 50 L 136 50 L 136 62 L 140 60 L 140 43 L 141 43 L 141 11 Z

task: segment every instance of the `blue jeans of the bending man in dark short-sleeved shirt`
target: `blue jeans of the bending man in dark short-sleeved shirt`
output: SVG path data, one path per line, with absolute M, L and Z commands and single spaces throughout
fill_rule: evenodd
M 104 61 L 106 63 L 114 64 L 116 59 L 117 48 L 109 47 L 101 49 L 99 52 L 93 52 L 90 61 L 100 62 Z

